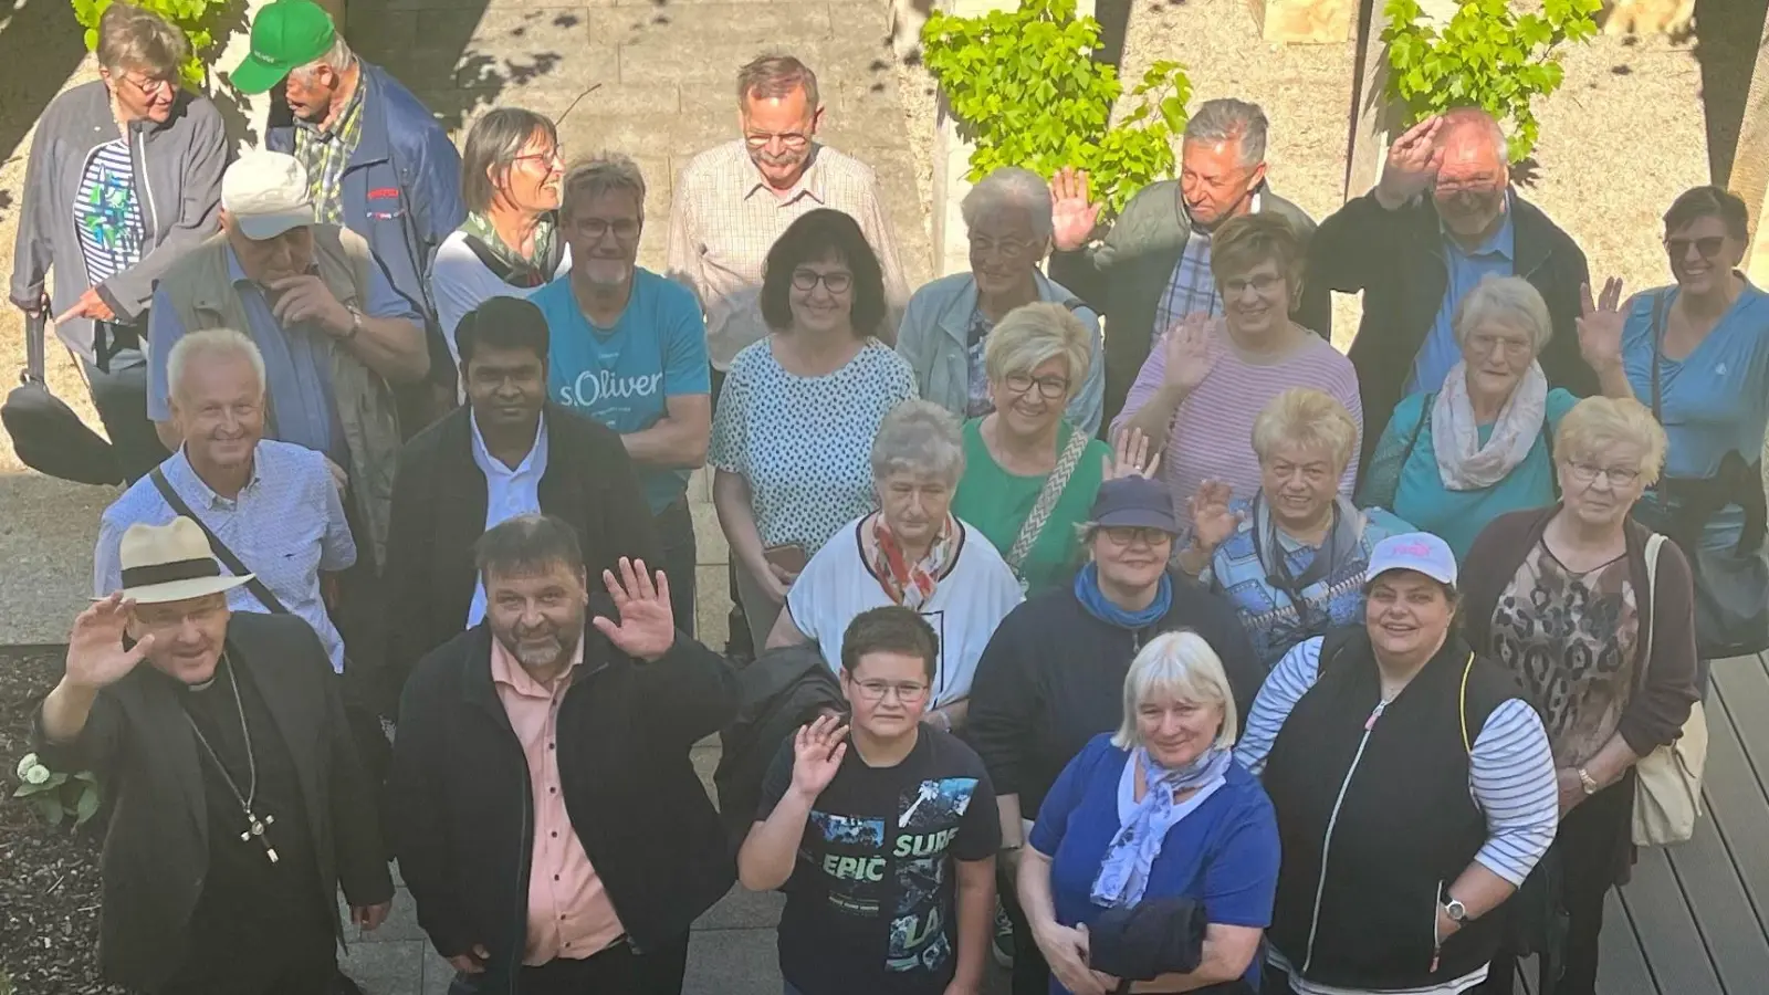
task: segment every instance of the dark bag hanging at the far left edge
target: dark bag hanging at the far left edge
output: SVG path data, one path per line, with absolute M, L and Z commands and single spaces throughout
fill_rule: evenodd
M 12 437 L 12 451 L 19 462 L 48 476 L 76 483 L 122 483 L 117 450 L 50 391 L 42 374 L 48 322 L 48 310 L 25 315 L 25 370 L 0 404 L 0 423 Z

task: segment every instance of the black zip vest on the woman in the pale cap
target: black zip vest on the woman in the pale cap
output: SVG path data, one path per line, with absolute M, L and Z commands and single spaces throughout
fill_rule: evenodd
M 1367 632 L 1327 636 L 1320 676 L 1265 768 L 1284 852 L 1270 940 L 1304 977 L 1422 988 L 1491 960 L 1497 915 L 1440 951 L 1436 912 L 1442 889 L 1486 843 L 1486 818 L 1468 795 L 1468 747 L 1507 698 L 1516 692 L 1505 675 L 1470 662 L 1468 644 L 1451 636 L 1371 719 L 1382 678 Z

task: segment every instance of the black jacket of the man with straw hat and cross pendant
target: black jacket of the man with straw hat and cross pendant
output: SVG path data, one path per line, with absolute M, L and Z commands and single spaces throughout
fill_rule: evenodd
M 379 905 L 393 898 L 393 878 L 331 659 L 313 627 L 292 614 L 234 613 L 226 648 L 278 719 L 318 859 L 313 887 L 333 908 L 341 938 L 338 887 L 350 905 Z M 191 912 L 209 873 L 202 761 L 177 694 L 142 662 L 99 692 L 74 742 L 46 742 L 41 708 L 32 729 L 46 767 L 92 770 L 110 795 L 99 967 L 108 981 L 149 991 L 186 956 Z

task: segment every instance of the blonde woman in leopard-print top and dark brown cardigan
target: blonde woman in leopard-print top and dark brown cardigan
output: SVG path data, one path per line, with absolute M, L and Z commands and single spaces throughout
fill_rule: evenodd
M 1562 501 L 1500 515 L 1463 572 L 1468 644 L 1520 682 L 1553 747 L 1571 915 L 1560 995 L 1596 990 L 1603 899 L 1633 864 L 1633 767 L 1677 738 L 1696 698 L 1689 563 L 1629 517 L 1665 444 L 1640 402 L 1578 402 L 1555 439 Z M 1511 991 L 1514 974 L 1500 954 L 1486 991 Z

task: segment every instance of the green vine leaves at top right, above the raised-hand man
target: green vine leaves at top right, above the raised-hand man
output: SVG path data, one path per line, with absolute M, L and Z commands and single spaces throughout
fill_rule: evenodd
M 1544 0 L 1516 14 L 1507 0 L 1461 0 L 1438 32 L 1422 23 L 1417 0 L 1387 0 L 1389 97 L 1406 106 L 1406 124 L 1456 106 L 1484 108 L 1511 122 L 1509 154 L 1535 149 L 1541 124 L 1534 99 L 1560 89 L 1557 48 L 1597 34 L 1601 0 Z

